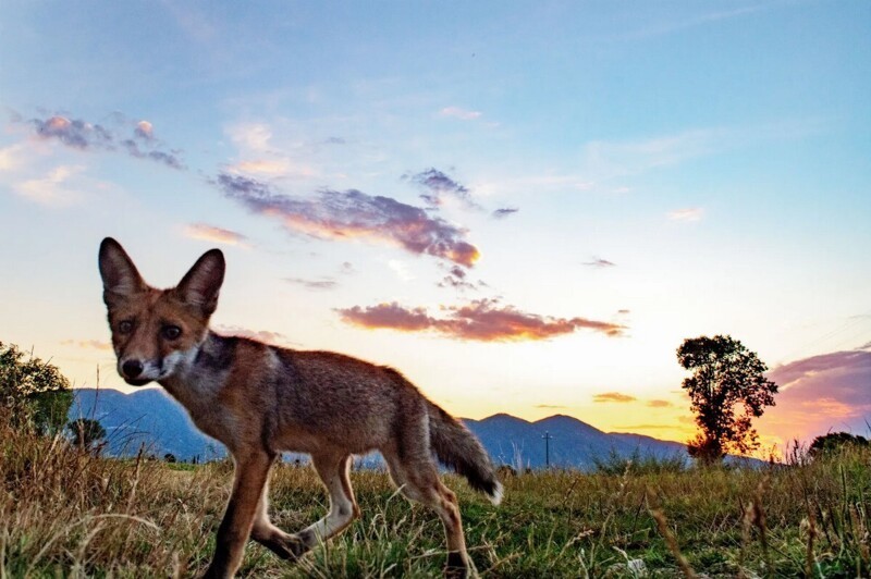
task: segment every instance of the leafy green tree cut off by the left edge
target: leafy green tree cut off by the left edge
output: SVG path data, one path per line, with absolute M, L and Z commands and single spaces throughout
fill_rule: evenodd
M 63 429 L 72 404 L 70 381 L 57 366 L 0 342 L 0 406 L 12 410 L 16 426 L 53 434 Z

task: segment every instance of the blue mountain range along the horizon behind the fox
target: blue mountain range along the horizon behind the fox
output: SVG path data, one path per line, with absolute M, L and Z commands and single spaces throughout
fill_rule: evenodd
M 187 412 L 162 389 L 131 394 L 111 389 L 77 389 L 70 418 L 95 418 L 108 432 L 114 455 L 131 455 L 140 445 L 156 456 L 173 454 L 180 460 L 209 460 L 225 456 L 223 446 L 200 433 Z M 482 420 L 463 419 L 498 465 L 541 468 L 545 464 L 544 433 L 549 433 L 550 464 L 589 470 L 597 458 L 616 453 L 629 457 L 686 456 L 685 446 L 641 434 L 608 433 L 571 416 L 556 415 L 529 422 L 506 414 Z M 366 466 L 377 459 L 357 460 Z

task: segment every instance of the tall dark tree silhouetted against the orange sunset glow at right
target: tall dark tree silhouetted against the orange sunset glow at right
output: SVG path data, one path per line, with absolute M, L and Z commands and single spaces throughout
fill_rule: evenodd
M 777 384 L 764 375 L 768 367 L 732 336 L 687 338 L 677 361 L 690 370 L 683 389 L 692 402 L 701 432 L 687 444 L 704 464 L 722 460 L 727 452 L 746 454 L 759 447 L 751 426 L 766 406 L 774 406 Z

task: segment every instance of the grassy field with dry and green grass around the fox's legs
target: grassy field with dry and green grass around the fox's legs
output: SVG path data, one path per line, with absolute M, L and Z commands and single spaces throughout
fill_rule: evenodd
M 455 477 L 447 483 L 481 577 L 871 576 L 871 453 L 794 463 L 506 477 L 500 507 Z M 0 427 L 0 578 L 200 572 L 231 468 L 99 458 Z M 343 535 L 296 565 L 250 543 L 241 575 L 439 576 L 436 516 L 396 495 L 385 473 L 354 472 L 353 482 L 364 516 Z M 285 530 L 326 510 L 308 468 L 279 466 L 271 488 Z

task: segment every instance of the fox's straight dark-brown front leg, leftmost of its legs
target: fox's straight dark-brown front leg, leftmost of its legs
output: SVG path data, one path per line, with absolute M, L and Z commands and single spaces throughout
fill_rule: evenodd
M 257 451 L 236 458 L 233 493 L 226 504 L 226 513 L 218 527 L 214 556 L 206 570 L 206 578 L 233 577 L 242 563 L 245 543 L 252 532 L 257 504 L 263 492 L 274 455 Z

